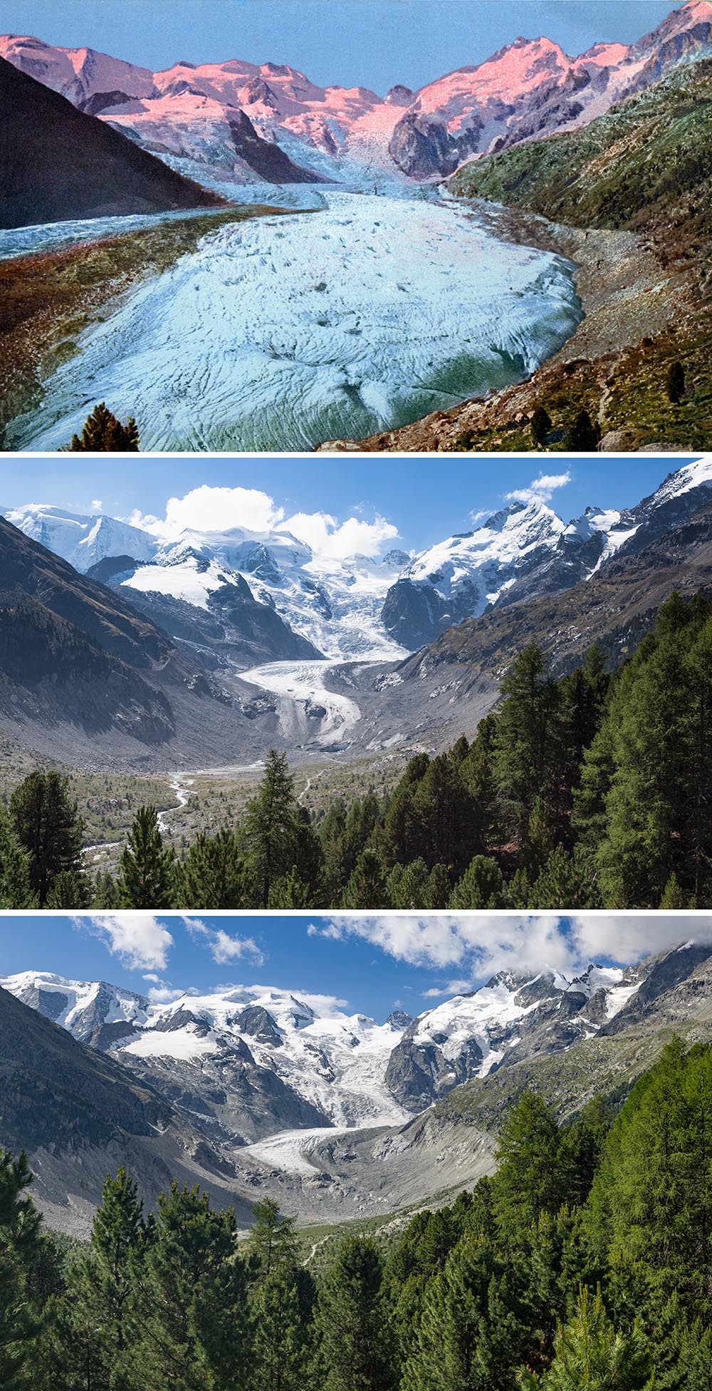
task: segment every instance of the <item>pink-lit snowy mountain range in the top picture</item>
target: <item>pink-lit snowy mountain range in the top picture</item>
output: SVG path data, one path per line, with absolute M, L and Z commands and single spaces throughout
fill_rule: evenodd
M 0 39 L 0 54 L 196 178 L 289 182 L 348 179 L 364 166 L 446 175 L 473 154 L 576 129 L 711 43 L 712 4 L 688 0 L 633 45 L 598 43 L 569 57 L 547 38 L 519 38 L 481 64 L 417 92 L 396 85 L 385 97 L 238 58 L 152 72 L 18 35 Z

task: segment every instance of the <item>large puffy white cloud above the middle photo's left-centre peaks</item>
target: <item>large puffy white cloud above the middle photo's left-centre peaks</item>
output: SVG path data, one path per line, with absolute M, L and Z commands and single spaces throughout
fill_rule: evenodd
M 168 498 L 165 516 L 156 517 L 132 512 L 131 526 L 152 531 L 163 540 L 174 541 L 184 531 L 274 531 L 284 520 L 284 510 L 259 488 L 213 488 L 203 483 L 182 498 Z

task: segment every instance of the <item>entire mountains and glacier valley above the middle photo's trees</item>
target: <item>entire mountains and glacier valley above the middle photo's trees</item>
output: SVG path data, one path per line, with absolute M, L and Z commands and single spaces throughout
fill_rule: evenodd
M 0 515 L 0 723 L 72 766 L 253 765 L 471 733 L 517 651 L 615 666 L 712 584 L 712 460 L 565 523 L 512 502 L 409 556 L 324 559 L 286 531 L 160 537 L 50 505 Z

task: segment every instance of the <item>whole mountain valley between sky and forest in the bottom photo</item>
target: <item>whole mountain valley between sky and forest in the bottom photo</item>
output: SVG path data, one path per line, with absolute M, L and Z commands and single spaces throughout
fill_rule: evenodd
M 266 986 L 154 1004 L 28 971 L 0 978 L 0 1143 L 28 1149 L 40 1202 L 74 1230 L 124 1161 L 150 1199 L 172 1170 L 242 1212 L 264 1189 L 363 1214 L 490 1167 L 517 1086 L 566 1114 L 597 1086 L 622 1097 L 672 1028 L 704 1038 L 711 1020 L 711 947 L 694 942 L 576 979 L 502 971 L 384 1024 Z

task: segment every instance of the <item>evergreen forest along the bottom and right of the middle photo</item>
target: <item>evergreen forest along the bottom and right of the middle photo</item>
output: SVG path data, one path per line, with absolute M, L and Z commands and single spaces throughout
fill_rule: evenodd
M 93 881 L 58 772 L 0 808 L 0 907 L 706 908 L 712 904 L 712 600 L 677 594 L 616 670 L 552 675 L 526 647 L 471 743 L 419 753 L 384 797 L 299 805 L 273 751 L 239 825 L 182 858 L 140 807 Z

